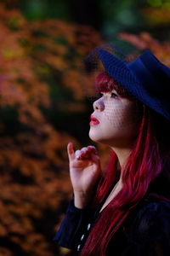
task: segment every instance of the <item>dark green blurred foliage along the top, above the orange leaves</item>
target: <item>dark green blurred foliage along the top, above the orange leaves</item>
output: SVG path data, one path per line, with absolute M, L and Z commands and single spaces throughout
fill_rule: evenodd
M 30 20 L 57 18 L 91 24 L 107 41 L 126 30 L 154 32 L 156 38 L 170 38 L 169 0 L 2 0 L 8 9 L 18 8 Z M 120 43 L 120 42 L 119 42 Z

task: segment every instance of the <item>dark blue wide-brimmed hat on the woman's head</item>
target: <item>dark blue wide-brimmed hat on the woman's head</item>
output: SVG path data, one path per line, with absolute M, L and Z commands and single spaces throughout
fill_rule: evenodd
M 105 71 L 124 89 L 170 120 L 170 68 L 161 63 L 149 49 L 131 62 L 122 61 L 103 47 L 96 48 L 95 55 L 98 55 Z M 87 60 L 89 64 L 89 56 L 86 64 Z

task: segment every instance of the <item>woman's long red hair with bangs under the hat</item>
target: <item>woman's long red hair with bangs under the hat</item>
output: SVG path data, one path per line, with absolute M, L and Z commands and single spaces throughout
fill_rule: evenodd
M 106 80 L 109 81 L 109 85 L 104 83 Z M 121 85 L 117 84 L 114 79 L 111 79 L 107 73 L 100 73 L 96 81 L 96 84 L 99 84 L 99 90 L 105 85 L 107 86 L 107 91 L 112 90 L 111 88 L 116 89 L 114 87 L 115 84 L 117 88 L 121 88 Z M 122 93 L 126 94 L 126 91 L 123 89 Z M 133 207 L 144 197 L 150 183 L 162 172 L 163 166 L 167 161 L 167 155 L 169 156 L 169 142 L 167 148 L 164 147 L 163 143 L 160 143 L 159 139 L 162 139 L 162 137 L 159 138 L 156 135 L 156 131 L 154 131 L 156 127 L 153 125 L 154 121 L 150 117 L 150 113 L 152 111 L 144 106 L 139 136 L 127 159 L 126 166 L 123 168 L 122 189 L 114 200 L 105 207 L 105 211 L 99 215 L 96 224 L 94 224 L 88 236 L 88 240 L 82 248 L 81 256 L 105 255 L 111 237 L 114 236 L 116 230 L 125 221 Z M 157 117 L 159 115 L 156 115 Z M 94 205 L 98 204 L 105 197 L 111 184 L 116 180 L 117 176 L 120 176 L 118 165 L 116 154 L 112 151 L 105 177 L 99 182 L 94 197 Z

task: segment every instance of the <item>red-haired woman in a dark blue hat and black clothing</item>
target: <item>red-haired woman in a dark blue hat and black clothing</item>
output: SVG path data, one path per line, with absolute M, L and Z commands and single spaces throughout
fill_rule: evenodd
M 74 198 L 54 239 L 83 256 L 169 255 L 170 69 L 150 50 L 128 64 L 104 47 L 97 55 L 89 137 L 111 160 L 103 173 L 93 146 L 68 144 Z

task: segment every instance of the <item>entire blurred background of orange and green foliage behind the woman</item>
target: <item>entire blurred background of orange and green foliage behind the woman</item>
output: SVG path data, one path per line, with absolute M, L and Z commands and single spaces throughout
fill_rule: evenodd
M 53 238 L 72 195 L 66 145 L 94 144 L 82 58 L 115 43 L 170 67 L 169 28 L 170 0 L 1 0 L 0 256 L 71 254 Z

